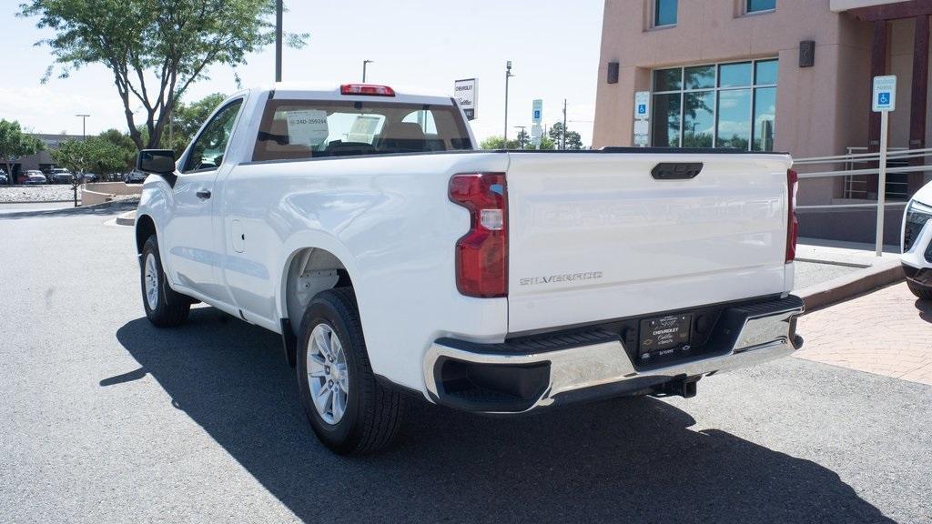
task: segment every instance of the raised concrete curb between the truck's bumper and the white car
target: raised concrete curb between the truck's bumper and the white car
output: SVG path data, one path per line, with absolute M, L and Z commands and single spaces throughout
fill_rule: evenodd
M 794 295 L 800 296 L 806 312 L 819 310 L 853 296 L 861 295 L 905 278 L 898 259 L 884 260 L 825 283 L 810 285 Z

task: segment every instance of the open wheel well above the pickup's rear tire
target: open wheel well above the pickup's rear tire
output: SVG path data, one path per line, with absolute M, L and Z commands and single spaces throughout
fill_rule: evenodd
M 296 252 L 285 273 L 285 313 L 295 336 L 310 300 L 334 287 L 352 287 L 346 266 L 325 249 L 308 247 Z

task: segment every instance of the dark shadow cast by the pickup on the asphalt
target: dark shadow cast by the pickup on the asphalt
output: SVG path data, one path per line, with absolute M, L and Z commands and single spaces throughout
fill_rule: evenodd
M 308 521 L 892 522 L 834 472 L 652 398 L 495 419 L 411 402 L 401 442 L 337 457 L 310 432 L 279 338 L 212 308 L 117 338 L 297 517 Z

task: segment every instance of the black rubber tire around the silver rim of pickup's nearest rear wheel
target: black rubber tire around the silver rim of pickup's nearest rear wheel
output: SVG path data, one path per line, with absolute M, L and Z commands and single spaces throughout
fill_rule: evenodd
M 297 348 L 295 367 L 301 404 L 323 445 L 340 455 L 359 455 L 389 445 L 398 433 L 404 411 L 401 395 L 379 384 L 373 375 L 358 311 L 351 287 L 314 296 L 301 321 Z M 346 409 L 336 423 L 324 421 L 314 406 L 308 381 L 310 337 L 319 324 L 336 334 L 346 359 Z

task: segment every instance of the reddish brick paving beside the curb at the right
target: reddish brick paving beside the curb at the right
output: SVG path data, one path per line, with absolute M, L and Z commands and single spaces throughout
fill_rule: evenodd
M 795 356 L 932 385 L 932 302 L 906 283 L 803 316 Z

